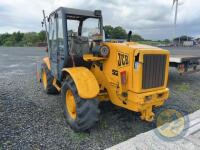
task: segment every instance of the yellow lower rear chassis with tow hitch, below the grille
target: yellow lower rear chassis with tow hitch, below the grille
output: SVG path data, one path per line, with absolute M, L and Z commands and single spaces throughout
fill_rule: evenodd
M 98 99 L 101 101 L 110 100 L 117 106 L 126 108 L 134 112 L 140 112 L 140 118 L 148 122 L 151 122 L 154 119 L 154 113 L 152 109 L 154 107 L 162 106 L 164 102 L 168 99 L 168 97 L 168 88 L 142 94 L 137 94 L 129 91 L 127 99 L 123 98 L 120 95 L 109 96 L 108 93 L 98 94 Z

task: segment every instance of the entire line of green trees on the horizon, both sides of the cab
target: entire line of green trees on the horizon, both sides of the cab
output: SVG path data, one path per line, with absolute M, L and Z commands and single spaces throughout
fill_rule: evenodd
M 128 33 L 121 27 L 112 27 L 111 25 L 104 26 L 106 39 L 124 39 L 128 38 Z M 144 44 L 157 45 L 157 43 L 169 43 L 169 40 L 164 41 L 151 41 L 145 40 L 142 36 L 133 33 L 131 41 L 141 42 Z M 0 46 L 38 46 L 39 43 L 46 42 L 45 31 L 22 33 L 20 31 L 0 34 Z

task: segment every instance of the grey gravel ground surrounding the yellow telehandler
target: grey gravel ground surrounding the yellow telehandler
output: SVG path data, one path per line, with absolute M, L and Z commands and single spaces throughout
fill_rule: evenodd
M 137 113 L 103 103 L 100 122 L 74 133 L 65 123 L 60 95 L 46 95 L 36 81 L 35 63 L 44 55 L 42 48 L 0 48 L 0 150 L 104 149 L 154 128 Z M 200 109 L 199 87 L 200 73 L 179 76 L 171 69 L 165 105 L 188 113 Z

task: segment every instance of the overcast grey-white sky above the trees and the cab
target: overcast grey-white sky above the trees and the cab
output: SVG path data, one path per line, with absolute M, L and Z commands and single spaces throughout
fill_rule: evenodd
M 200 37 L 200 0 L 179 0 L 177 35 Z M 173 0 L 0 0 L 0 33 L 40 31 L 42 10 L 100 9 L 104 25 L 122 26 L 146 39 L 172 38 Z

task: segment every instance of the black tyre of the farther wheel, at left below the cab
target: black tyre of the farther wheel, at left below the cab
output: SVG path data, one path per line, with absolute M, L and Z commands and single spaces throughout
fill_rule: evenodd
M 45 92 L 47 94 L 58 94 L 59 91 L 53 85 L 54 77 L 51 75 L 51 71 L 48 69 L 48 67 L 47 67 L 47 65 L 45 63 L 42 64 L 41 76 L 42 76 L 43 73 L 46 73 L 46 78 L 47 78 L 47 86 L 46 86 L 46 88 L 44 87 L 44 84 L 43 84 L 43 88 L 44 88 Z M 44 81 L 42 79 L 42 83 L 43 82 Z

